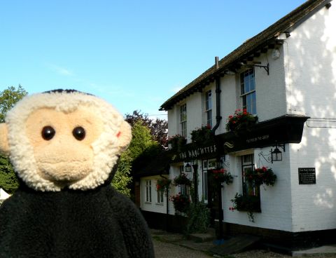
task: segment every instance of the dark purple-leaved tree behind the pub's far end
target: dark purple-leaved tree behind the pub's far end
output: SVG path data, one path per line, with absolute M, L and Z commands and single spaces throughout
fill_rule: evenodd
M 164 119 L 156 118 L 155 120 L 148 118 L 148 114 L 142 114 L 140 111 L 135 110 L 133 114 L 126 114 L 125 121 L 130 123 L 133 127 L 135 123 L 141 121 L 143 125 L 146 125 L 151 130 L 153 140 L 159 142 L 162 147 L 167 147 L 168 137 L 168 121 Z

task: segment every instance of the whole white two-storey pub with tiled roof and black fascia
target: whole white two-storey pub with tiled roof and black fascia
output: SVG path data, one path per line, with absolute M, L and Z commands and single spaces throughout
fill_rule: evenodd
M 190 194 L 190 187 L 170 184 L 167 193 L 156 185 L 184 173 L 196 186 L 192 201 L 207 203 L 218 236 L 248 233 L 283 247 L 335 243 L 335 24 L 332 1 L 307 1 L 216 57 L 162 104 L 169 137 L 186 137 L 186 144 L 169 146 L 137 171 L 137 204 L 149 226 L 182 228 L 172 196 Z M 211 137 L 192 141 L 204 125 Z M 246 177 L 258 169 L 272 170 L 274 184 Z M 219 182 L 217 191 L 214 174 L 223 172 L 232 182 Z M 232 203 L 235 196 L 248 205 Z

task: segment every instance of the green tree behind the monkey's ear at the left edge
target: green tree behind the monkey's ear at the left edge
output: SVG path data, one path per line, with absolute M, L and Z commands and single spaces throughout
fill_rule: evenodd
M 8 89 L 0 92 L 0 123 L 5 121 L 6 113 L 15 105 L 16 102 L 27 95 L 27 91 L 18 86 L 8 87 Z M 0 187 L 12 194 L 18 188 L 18 180 L 16 179 L 13 166 L 10 164 L 9 158 L 0 154 Z

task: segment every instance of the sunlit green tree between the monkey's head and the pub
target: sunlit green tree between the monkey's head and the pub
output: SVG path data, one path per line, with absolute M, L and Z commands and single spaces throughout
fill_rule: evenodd
M 158 142 L 153 140 L 151 130 L 141 121 L 134 122 L 132 126 L 132 141 L 130 147 L 120 156 L 118 170 L 113 177 L 113 187 L 122 194 L 130 196 L 132 183 L 131 171 L 137 157 L 153 146 L 158 146 Z

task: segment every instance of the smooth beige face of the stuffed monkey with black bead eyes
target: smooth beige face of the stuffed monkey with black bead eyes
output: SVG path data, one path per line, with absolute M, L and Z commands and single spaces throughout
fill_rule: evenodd
M 67 184 L 86 177 L 93 168 L 92 143 L 102 134 L 102 118 L 94 107 L 65 113 L 37 109 L 26 123 L 39 175 Z

